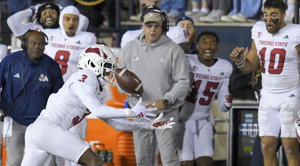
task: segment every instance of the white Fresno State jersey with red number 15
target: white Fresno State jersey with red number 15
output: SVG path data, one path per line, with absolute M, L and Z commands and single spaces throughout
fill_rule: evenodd
M 179 118 L 182 120 L 208 119 L 216 94 L 220 109 L 228 111 L 225 108 L 223 96 L 224 93 L 228 93 L 229 77 L 232 72 L 231 64 L 224 59 L 217 58 L 215 64 L 207 67 L 198 60 L 197 55 L 187 55 L 187 61 L 192 75 L 190 78 L 192 87 L 179 113 Z

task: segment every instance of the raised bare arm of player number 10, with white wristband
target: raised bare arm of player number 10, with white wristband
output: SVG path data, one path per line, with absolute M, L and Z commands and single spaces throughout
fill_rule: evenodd
M 243 47 L 236 47 L 230 53 L 230 58 L 233 62 L 237 64 L 237 67 L 243 73 L 250 73 L 254 69 L 257 68 L 257 64 L 259 63 L 259 57 L 257 56 L 257 50 L 255 46 L 254 40 L 252 40 L 252 45 L 247 53 L 246 57 L 244 58 L 245 48 Z

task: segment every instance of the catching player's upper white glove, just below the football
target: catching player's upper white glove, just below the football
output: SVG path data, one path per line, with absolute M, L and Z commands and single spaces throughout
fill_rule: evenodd
M 142 106 L 142 97 L 140 97 L 140 100 L 138 100 L 138 103 L 132 108 L 130 109 L 130 115 L 132 118 L 142 118 L 148 121 L 151 121 L 147 116 L 151 116 L 151 117 L 156 117 L 157 115 L 155 114 L 151 114 L 148 112 L 153 112 L 156 111 L 157 108 L 149 108 L 150 105 L 147 106 Z M 155 103 L 152 103 L 152 105 L 155 105 Z

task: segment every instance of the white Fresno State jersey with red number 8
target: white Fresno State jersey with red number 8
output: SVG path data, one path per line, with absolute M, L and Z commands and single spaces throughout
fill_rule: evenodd
M 86 47 L 96 44 L 96 37 L 90 32 L 76 32 L 73 37 L 62 37 L 61 29 L 46 29 L 49 43 L 44 53 L 53 58 L 61 67 L 63 81 L 78 71 L 78 56 Z

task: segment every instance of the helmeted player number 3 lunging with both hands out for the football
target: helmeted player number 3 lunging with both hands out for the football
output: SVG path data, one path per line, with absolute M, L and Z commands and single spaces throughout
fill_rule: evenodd
M 156 116 L 149 113 L 156 108 L 141 106 L 142 98 L 132 109 L 105 105 L 107 93 L 103 85 L 106 82 L 113 85 L 112 71 L 118 67 L 116 57 L 108 47 L 92 45 L 84 49 L 79 55 L 78 67 L 82 70 L 70 76 L 58 93 L 50 95 L 46 109 L 28 126 L 22 166 L 43 165 L 50 154 L 82 165 L 102 165 L 101 157 L 93 152 L 91 145 L 68 131 L 91 113 L 122 131 L 169 129 L 175 124 L 171 122 L 173 118 L 160 122 L 163 113 L 149 123 L 124 120 L 140 113 L 145 116 L 136 118 L 149 120 L 146 116 Z

